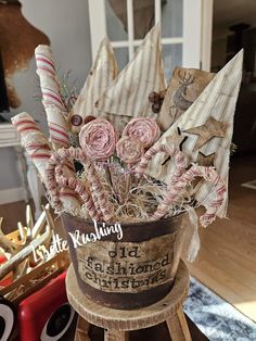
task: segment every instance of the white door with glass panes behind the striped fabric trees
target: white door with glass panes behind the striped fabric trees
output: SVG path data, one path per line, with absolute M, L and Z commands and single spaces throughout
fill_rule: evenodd
M 161 23 L 167 79 L 176 65 L 209 70 L 212 11 L 213 0 L 89 0 L 92 58 L 107 36 L 121 70 Z

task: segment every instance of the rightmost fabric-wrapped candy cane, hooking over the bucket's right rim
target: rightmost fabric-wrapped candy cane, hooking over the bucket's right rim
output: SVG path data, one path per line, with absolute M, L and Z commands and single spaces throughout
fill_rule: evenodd
M 206 213 L 200 217 L 200 223 L 202 226 L 206 227 L 207 225 L 212 224 L 216 218 L 216 212 L 223 202 L 223 195 L 227 189 L 225 182 L 220 179 L 214 167 L 204 167 L 195 164 L 192 165 L 192 167 L 180 177 L 180 179 L 171 187 L 171 190 L 168 190 L 167 188 L 164 201 L 153 214 L 152 219 L 157 220 L 162 218 L 169 211 L 170 205 L 174 204 L 180 192 L 182 192 L 185 187 L 197 176 L 203 177 L 206 181 L 214 185 L 216 199 L 206 206 Z

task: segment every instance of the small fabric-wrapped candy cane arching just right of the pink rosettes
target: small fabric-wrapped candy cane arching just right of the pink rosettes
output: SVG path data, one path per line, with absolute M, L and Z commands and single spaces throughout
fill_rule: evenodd
M 166 146 L 156 143 L 151 147 L 141 159 L 141 162 L 137 165 L 136 172 L 139 174 L 143 174 L 152 157 L 159 152 L 167 153 L 175 159 L 176 171 L 169 184 L 170 186 L 172 186 L 179 180 L 180 176 L 184 173 L 187 167 L 184 154 L 179 151 L 179 149 L 176 148 L 174 144 Z

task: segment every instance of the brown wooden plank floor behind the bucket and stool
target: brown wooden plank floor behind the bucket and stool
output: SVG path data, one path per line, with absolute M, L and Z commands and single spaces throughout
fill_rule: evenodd
M 202 248 L 189 264 L 191 275 L 256 320 L 256 190 L 241 187 L 256 179 L 256 156 L 231 161 L 230 219 L 218 219 L 201 228 Z M 25 223 L 23 202 L 0 205 L 3 229 Z

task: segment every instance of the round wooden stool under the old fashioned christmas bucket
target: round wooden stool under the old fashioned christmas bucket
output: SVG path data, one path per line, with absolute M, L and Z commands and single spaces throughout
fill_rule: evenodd
M 73 265 L 66 277 L 66 291 L 71 305 L 79 314 L 76 340 L 90 341 L 89 324 L 105 329 L 105 341 L 127 341 L 129 330 L 167 323 L 172 341 L 191 341 L 190 331 L 182 311 L 189 289 L 189 270 L 181 261 L 175 285 L 162 301 L 133 311 L 120 311 L 101 306 L 88 299 L 79 289 Z

